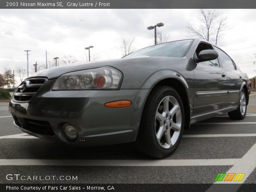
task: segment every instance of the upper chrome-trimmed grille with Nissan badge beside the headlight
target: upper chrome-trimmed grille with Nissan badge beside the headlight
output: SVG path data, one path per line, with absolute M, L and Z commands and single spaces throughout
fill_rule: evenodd
M 25 80 L 18 86 L 17 91 L 14 93 L 14 101 L 28 102 L 46 82 L 46 78 L 31 78 Z

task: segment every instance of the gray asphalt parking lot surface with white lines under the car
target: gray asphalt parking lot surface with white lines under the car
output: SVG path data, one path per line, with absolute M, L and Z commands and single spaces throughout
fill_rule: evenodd
M 176 152 L 154 160 L 132 144 L 74 148 L 24 134 L 13 125 L 8 103 L 0 103 L 0 183 L 6 174 L 69 175 L 62 183 L 214 183 L 218 173 L 245 173 L 239 183 L 256 183 L 256 92 L 244 120 L 227 114 L 193 124 Z M 31 181 L 58 183 L 58 180 Z

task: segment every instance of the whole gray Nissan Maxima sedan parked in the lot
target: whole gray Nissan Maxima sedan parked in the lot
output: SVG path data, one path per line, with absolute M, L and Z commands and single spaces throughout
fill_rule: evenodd
M 162 158 L 194 122 L 226 112 L 243 119 L 248 82 L 216 46 L 180 40 L 38 72 L 20 84 L 9 110 L 16 126 L 39 138 L 79 146 L 136 141 Z

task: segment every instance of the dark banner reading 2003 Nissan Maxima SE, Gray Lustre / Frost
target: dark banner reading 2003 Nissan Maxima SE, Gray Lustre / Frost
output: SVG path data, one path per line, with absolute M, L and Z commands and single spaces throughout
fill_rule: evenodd
M 256 8 L 255 0 L 1 0 L 1 9 Z

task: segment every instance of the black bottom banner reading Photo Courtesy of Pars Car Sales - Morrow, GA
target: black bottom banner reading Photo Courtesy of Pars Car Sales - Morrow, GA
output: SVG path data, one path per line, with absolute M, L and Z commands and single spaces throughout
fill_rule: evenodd
M 253 192 L 256 184 L 0 184 L 0 192 Z

